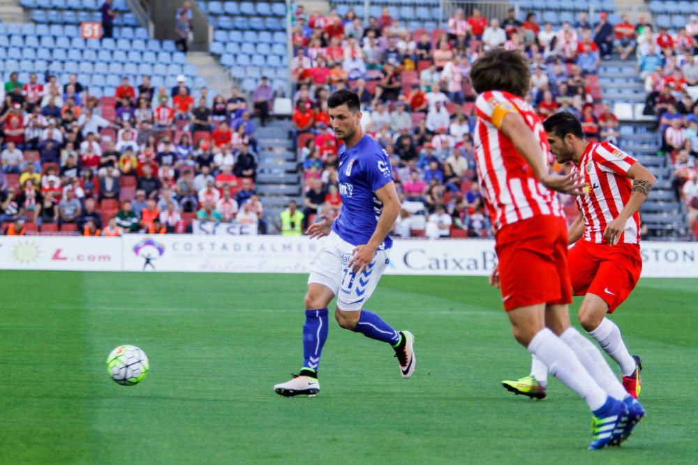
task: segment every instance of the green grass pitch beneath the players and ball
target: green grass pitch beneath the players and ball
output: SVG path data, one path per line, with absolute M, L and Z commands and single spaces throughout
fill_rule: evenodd
M 383 277 L 367 308 L 415 334 L 412 379 L 389 346 L 331 319 L 320 395 L 279 397 L 272 386 L 302 362 L 305 284 L 0 272 L 0 463 L 696 461 L 696 280 L 641 280 L 614 316 L 644 357 L 648 416 L 621 448 L 602 451 L 585 450 L 591 414 L 560 382 L 542 402 L 501 387 L 528 374 L 529 358 L 484 277 Z M 105 358 L 121 344 L 149 356 L 138 386 L 107 376 Z

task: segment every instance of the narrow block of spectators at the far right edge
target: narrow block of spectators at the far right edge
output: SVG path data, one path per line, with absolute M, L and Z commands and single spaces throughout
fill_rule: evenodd
M 637 69 L 644 79 L 644 113 L 658 118 L 660 155 L 669 158 L 676 199 L 698 237 L 698 15 L 675 33 L 637 26 Z

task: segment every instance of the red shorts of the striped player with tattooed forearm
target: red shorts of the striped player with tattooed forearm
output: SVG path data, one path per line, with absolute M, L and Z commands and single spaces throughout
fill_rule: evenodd
M 628 298 L 642 271 L 637 244 L 595 244 L 577 241 L 569 252 L 570 276 L 575 296 L 594 294 L 613 313 Z

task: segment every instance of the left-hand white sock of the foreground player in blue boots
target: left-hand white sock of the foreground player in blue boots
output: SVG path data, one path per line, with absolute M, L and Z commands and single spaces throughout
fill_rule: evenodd
M 607 393 L 584 369 L 570 346 L 548 328 L 543 328 L 536 333 L 528 344 L 528 351 L 540 358 L 553 376 L 577 392 L 592 411 L 600 409 L 606 402 Z

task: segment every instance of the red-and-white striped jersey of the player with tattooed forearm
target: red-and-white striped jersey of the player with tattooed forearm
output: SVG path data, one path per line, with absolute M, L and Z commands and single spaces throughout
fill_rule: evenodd
M 606 225 L 618 218 L 632 191 L 632 180 L 626 177 L 635 159 L 609 142 L 589 144 L 579 159 L 577 169 L 588 185 L 586 195 L 577 197 L 577 206 L 584 213 L 584 239 L 607 244 Z M 625 223 L 618 243 L 639 244 L 640 214 L 635 212 Z

